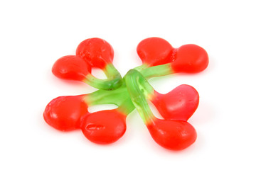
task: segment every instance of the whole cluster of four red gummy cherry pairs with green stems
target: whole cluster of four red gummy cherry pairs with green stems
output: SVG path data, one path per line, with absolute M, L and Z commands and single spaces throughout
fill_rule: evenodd
M 199 95 L 192 86 L 182 84 L 168 94 L 159 94 L 148 79 L 177 73 L 198 73 L 208 66 L 208 54 L 198 45 L 172 47 L 162 38 L 139 42 L 137 53 L 142 65 L 122 78 L 112 64 L 114 50 L 105 40 L 90 38 L 78 45 L 75 55 L 60 57 L 52 72 L 60 79 L 83 81 L 98 90 L 91 94 L 54 98 L 43 113 L 48 125 L 61 131 L 81 129 L 91 142 L 110 144 L 126 131 L 126 118 L 137 109 L 151 137 L 171 150 L 181 150 L 196 141 L 196 130 L 187 122 L 198 108 Z M 92 67 L 105 72 L 107 79 L 94 77 Z M 154 116 L 148 101 L 164 119 Z M 114 104 L 112 110 L 89 113 L 87 108 Z

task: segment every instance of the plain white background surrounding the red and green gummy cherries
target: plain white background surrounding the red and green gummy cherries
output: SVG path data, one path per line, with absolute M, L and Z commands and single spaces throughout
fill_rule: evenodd
M 1 1 L 0 169 L 256 169 L 253 2 Z M 112 145 L 44 122 L 51 99 L 96 90 L 54 77 L 55 60 L 75 54 L 82 40 L 103 38 L 124 76 L 142 64 L 137 44 L 152 36 L 208 52 L 209 66 L 200 74 L 150 80 L 161 93 L 180 84 L 198 90 L 200 104 L 189 120 L 198 138 L 191 147 L 171 152 L 156 145 L 137 111 Z

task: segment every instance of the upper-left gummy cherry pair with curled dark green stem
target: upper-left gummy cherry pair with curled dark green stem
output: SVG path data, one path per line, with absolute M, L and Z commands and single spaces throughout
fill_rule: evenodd
M 75 53 L 60 57 L 53 64 L 52 72 L 56 77 L 84 81 L 97 89 L 112 90 L 121 86 L 122 77 L 112 64 L 114 50 L 107 41 L 89 38 L 80 42 Z M 92 67 L 102 69 L 107 79 L 92 76 Z

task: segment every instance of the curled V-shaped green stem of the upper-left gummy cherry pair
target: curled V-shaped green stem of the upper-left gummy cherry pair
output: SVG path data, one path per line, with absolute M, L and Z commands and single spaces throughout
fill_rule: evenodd
M 113 64 L 107 64 L 103 72 L 105 72 L 107 79 L 97 79 L 92 74 L 87 74 L 83 81 L 90 86 L 103 90 L 117 89 L 122 85 L 122 77 Z

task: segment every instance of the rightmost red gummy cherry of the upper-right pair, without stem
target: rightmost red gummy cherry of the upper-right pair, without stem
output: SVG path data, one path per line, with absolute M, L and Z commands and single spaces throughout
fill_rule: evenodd
M 171 62 L 174 72 L 197 73 L 208 66 L 209 59 L 206 50 L 198 45 L 188 44 L 178 47 L 176 60 Z

